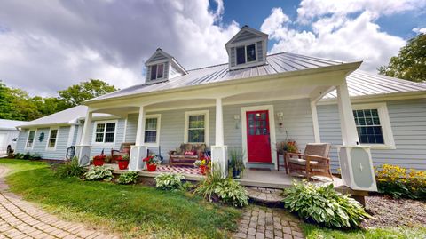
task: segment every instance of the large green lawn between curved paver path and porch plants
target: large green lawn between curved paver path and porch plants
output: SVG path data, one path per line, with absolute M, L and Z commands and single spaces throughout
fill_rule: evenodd
M 181 192 L 140 185 L 58 179 L 48 164 L 1 159 L 12 169 L 11 190 L 62 218 L 83 221 L 128 238 L 224 238 L 241 211 Z

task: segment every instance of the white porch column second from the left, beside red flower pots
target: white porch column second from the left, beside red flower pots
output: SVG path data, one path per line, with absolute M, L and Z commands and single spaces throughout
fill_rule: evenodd
M 130 147 L 130 171 L 141 171 L 145 163 L 142 159 L 147 155 L 147 147 L 145 144 L 145 109 L 144 106 L 139 107 L 138 128 L 136 131 L 135 145 Z

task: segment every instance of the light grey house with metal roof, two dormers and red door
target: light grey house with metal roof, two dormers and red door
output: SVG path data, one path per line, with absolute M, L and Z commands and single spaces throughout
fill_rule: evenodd
M 87 164 L 102 149 L 132 142 L 130 169 L 141 170 L 148 148 L 161 147 L 167 161 L 167 152 L 183 142 L 205 143 L 222 165 L 227 147 L 241 147 L 250 152 L 248 167 L 277 169 L 275 143 L 289 137 L 301 150 L 310 142 L 331 143 L 333 170 L 338 146 L 370 147 L 375 164 L 426 169 L 426 85 L 361 71 L 361 61 L 267 55 L 267 44 L 267 35 L 245 26 L 217 49 L 229 62 L 192 70 L 157 49 L 146 60 L 145 82 L 87 100 L 78 114 L 57 113 L 80 121 L 47 116 L 22 125 L 18 151 L 60 159 L 77 146 Z M 49 147 L 55 129 L 60 151 Z M 39 142 L 42 131 L 47 141 Z

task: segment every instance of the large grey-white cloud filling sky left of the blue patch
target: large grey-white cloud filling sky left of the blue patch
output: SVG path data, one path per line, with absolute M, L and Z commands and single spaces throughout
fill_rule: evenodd
M 224 25 L 222 0 L 216 5 L 211 9 L 208 0 L 1 1 L 0 80 L 43 95 L 89 78 L 123 88 L 145 80 L 144 60 L 157 47 L 187 69 L 225 62 L 224 45 L 239 26 Z

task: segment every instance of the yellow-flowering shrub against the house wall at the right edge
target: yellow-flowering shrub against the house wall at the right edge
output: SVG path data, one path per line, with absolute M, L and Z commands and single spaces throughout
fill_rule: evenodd
M 394 198 L 426 198 L 426 171 L 383 164 L 375 169 L 375 174 L 379 193 Z

